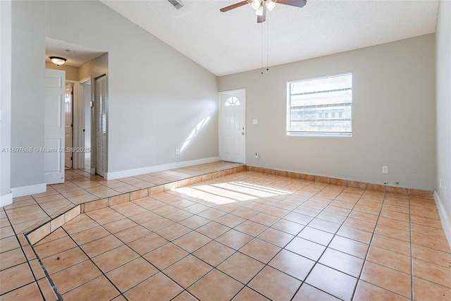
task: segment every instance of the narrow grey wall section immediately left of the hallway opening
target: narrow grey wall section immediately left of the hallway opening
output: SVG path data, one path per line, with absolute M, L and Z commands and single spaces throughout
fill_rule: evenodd
M 11 147 L 44 147 L 44 7 L 12 1 Z M 45 191 L 44 153 L 11 154 L 11 188 Z

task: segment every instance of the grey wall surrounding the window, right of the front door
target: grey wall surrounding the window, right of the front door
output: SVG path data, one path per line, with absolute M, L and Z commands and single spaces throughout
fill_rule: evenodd
M 263 75 L 253 70 L 218 78 L 220 91 L 247 91 L 246 163 L 433 190 L 434 44 L 434 35 L 424 35 L 276 66 Z M 287 81 L 348 71 L 353 75 L 352 137 L 288 137 Z M 382 166 L 389 167 L 388 174 Z

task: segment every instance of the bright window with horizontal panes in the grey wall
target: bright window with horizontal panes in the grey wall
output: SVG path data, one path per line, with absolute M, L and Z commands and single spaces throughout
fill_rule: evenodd
M 352 136 L 352 73 L 288 82 L 287 98 L 287 135 Z

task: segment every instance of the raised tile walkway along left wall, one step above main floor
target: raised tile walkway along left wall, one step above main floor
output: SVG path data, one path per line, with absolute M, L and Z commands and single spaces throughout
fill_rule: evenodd
M 238 166 L 242 164 L 214 162 L 118 180 L 67 170 L 64 184 L 49 185 L 47 192 L 38 195 L 14 198 L 13 204 L 0 208 L 0 300 L 56 300 L 25 233 L 83 202 L 223 173 Z

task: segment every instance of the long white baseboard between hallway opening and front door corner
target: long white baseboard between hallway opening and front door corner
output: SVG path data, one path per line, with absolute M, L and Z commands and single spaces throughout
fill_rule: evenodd
M 214 156 L 212 158 L 191 160 L 191 161 L 182 161 L 182 162 L 174 162 L 174 163 L 169 163 L 169 164 L 161 164 L 161 165 L 149 166 L 149 167 L 143 167 L 143 168 L 128 169 L 126 171 L 113 171 L 111 173 L 106 173 L 105 179 L 106 180 L 115 180 L 118 178 L 127 178 L 127 177 L 132 177 L 132 176 L 144 175 L 145 173 L 156 173 L 159 171 L 168 171 L 170 169 L 212 163 L 212 162 L 216 162 L 216 161 L 219 161 L 218 156 Z

